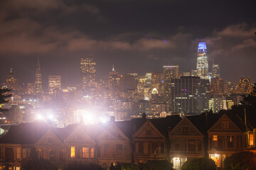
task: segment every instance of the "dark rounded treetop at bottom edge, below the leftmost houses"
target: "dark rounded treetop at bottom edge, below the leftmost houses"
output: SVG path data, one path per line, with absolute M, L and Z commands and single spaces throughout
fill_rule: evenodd
M 55 165 L 46 159 L 32 159 L 26 163 L 24 170 L 57 170 Z

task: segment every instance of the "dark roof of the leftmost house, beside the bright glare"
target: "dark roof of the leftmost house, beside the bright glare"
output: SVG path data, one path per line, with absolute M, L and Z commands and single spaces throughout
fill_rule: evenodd
M 0 139 L 0 143 L 32 144 L 46 133 L 49 126 L 43 122 L 21 123 L 11 126 L 9 132 Z

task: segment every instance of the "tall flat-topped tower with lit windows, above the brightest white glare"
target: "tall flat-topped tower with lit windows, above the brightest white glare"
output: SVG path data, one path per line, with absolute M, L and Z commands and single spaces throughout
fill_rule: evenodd
M 95 83 L 96 62 L 93 58 L 84 58 L 80 60 L 80 78 L 82 91 L 87 90 L 87 87 Z

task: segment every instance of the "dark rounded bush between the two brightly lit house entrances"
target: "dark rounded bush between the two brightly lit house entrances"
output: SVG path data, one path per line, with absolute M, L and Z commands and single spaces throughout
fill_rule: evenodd
M 217 166 L 213 159 L 208 157 L 191 159 L 185 162 L 182 170 L 216 170 Z

